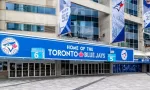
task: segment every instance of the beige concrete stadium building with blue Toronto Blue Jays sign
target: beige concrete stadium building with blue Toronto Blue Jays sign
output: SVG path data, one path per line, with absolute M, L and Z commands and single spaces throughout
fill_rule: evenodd
M 67 2 L 0 0 L 0 78 L 150 72 L 145 0 Z M 70 10 L 60 13 L 62 3 L 71 9 L 63 17 L 71 25 L 62 27 L 69 34 L 60 33 L 60 16 Z

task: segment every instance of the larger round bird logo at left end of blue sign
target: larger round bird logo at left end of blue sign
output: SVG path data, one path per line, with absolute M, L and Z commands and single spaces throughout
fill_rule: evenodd
M 19 44 L 14 38 L 8 37 L 2 40 L 1 49 L 7 55 L 14 55 L 19 50 Z

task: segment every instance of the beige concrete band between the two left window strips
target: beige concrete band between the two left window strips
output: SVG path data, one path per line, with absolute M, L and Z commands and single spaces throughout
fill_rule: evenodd
M 56 26 L 56 16 L 27 13 L 27 12 L 17 12 L 17 11 L 5 11 L 5 20 L 7 22 L 23 22 L 28 24 L 39 24 Z

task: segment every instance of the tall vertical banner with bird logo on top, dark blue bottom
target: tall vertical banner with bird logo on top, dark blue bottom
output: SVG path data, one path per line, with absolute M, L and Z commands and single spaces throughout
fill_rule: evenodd
M 112 43 L 125 40 L 124 0 L 112 0 Z

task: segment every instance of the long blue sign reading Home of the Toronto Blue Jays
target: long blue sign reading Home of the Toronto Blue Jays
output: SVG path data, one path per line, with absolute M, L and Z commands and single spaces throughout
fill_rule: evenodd
M 0 33 L 0 45 L 0 57 L 108 61 L 108 54 L 113 50 L 116 61 L 133 61 L 133 50 L 16 34 Z M 128 54 L 126 60 L 121 59 L 124 50 Z

